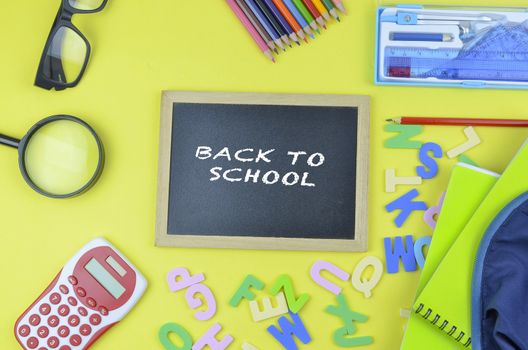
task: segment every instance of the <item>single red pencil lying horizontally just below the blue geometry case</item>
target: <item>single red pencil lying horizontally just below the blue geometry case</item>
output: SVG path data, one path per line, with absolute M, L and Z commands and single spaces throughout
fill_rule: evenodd
M 423 118 L 401 117 L 387 119 L 388 122 L 402 125 L 462 125 L 462 126 L 516 126 L 528 127 L 523 119 L 479 119 L 479 118 Z

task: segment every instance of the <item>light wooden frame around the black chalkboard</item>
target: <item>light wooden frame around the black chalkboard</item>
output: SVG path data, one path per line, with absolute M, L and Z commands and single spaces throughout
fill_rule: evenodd
M 355 238 L 310 239 L 169 234 L 167 231 L 171 136 L 173 106 L 175 103 L 356 107 L 358 109 L 358 134 Z M 164 91 L 161 101 L 156 246 L 301 251 L 366 251 L 368 244 L 369 114 L 370 98 L 368 96 Z

